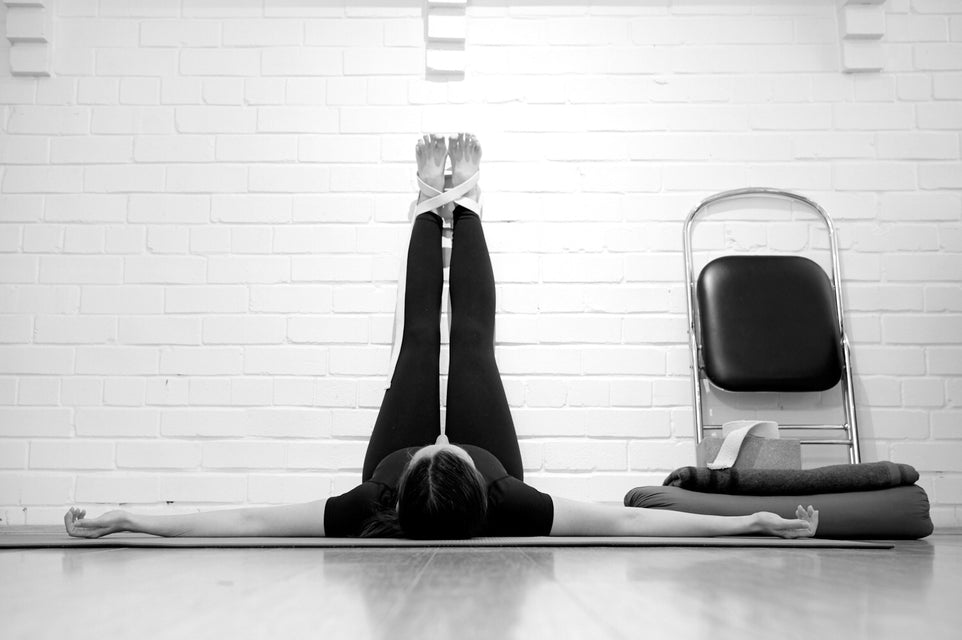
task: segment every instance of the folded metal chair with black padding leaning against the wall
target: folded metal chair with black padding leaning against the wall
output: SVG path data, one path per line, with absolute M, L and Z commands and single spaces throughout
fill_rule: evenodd
M 692 232 L 710 205 L 743 198 L 775 198 L 812 209 L 828 230 L 831 274 L 814 261 L 791 255 L 725 255 L 694 273 Z M 685 221 L 685 284 L 691 351 L 695 442 L 705 431 L 704 384 L 730 392 L 813 392 L 841 387 L 841 424 L 786 425 L 803 445 L 848 447 L 861 460 L 852 366 L 839 287 L 838 243 L 828 214 L 803 196 L 776 189 L 725 191 L 703 200 Z M 837 430 L 820 438 L 813 431 Z

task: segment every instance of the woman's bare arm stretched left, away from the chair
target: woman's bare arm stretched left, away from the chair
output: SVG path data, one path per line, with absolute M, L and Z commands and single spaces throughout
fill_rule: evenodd
M 98 518 L 73 508 L 64 515 L 67 533 L 76 538 L 100 538 L 130 531 L 164 537 L 323 537 L 327 500 L 279 507 L 249 507 L 183 515 L 150 516 L 108 511 Z

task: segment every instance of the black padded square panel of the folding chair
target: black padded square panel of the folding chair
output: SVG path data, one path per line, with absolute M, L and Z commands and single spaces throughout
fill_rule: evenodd
M 824 391 L 842 375 L 835 293 L 800 256 L 730 255 L 698 276 L 705 373 L 727 391 Z

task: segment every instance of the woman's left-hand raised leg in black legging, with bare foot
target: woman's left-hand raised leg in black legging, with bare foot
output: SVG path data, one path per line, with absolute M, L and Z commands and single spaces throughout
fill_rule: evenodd
M 438 190 L 444 186 L 446 155 L 443 137 L 424 136 L 418 141 L 418 175 Z M 441 218 L 422 213 L 414 221 L 408 245 L 401 349 L 364 456 L 363 480 L 370 479 L 388 454 L 431 444 L 441 430 L 438 359 L 443 278 Z

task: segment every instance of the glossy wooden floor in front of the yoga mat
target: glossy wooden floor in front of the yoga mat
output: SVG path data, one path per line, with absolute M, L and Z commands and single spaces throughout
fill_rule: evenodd
M 962 535 L 894 550 L 0 551 L 0 637 L 962 638 Z

